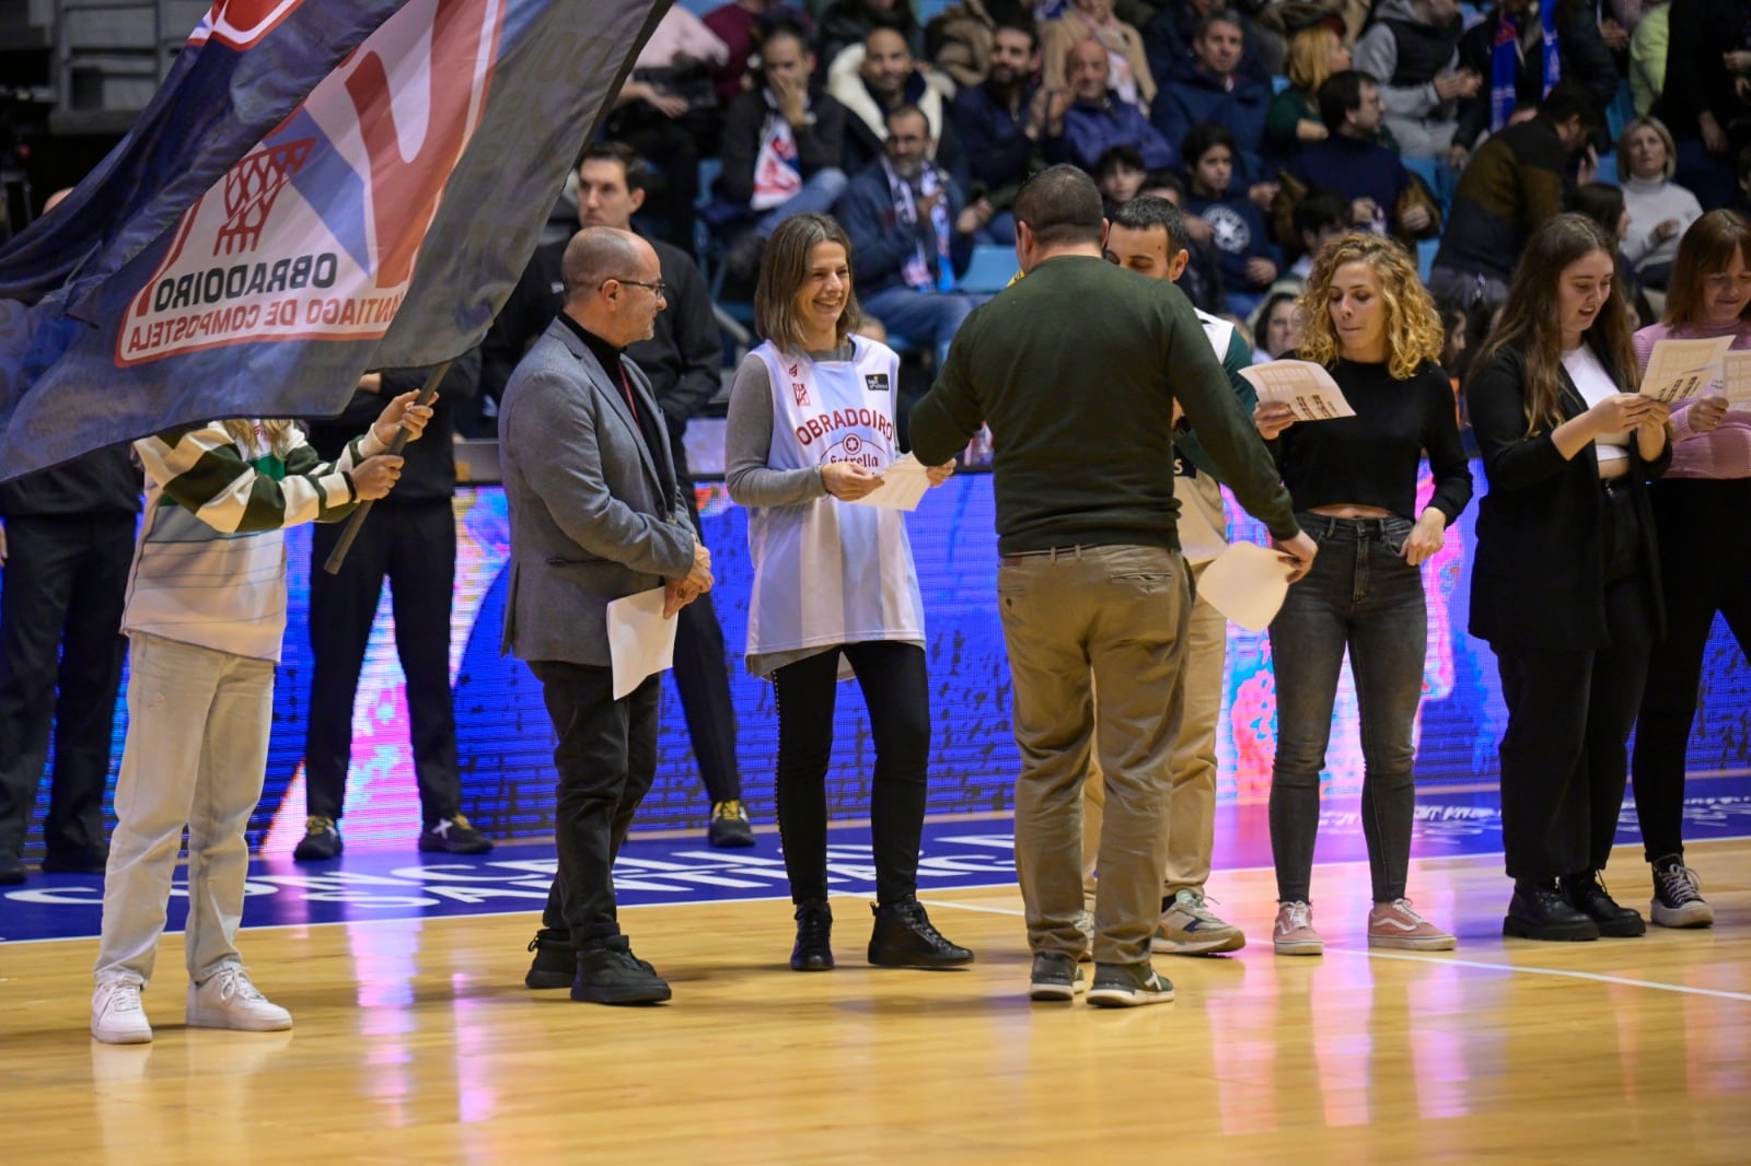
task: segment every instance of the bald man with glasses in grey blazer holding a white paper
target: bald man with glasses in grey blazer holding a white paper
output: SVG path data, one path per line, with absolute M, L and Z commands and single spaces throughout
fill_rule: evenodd
M 531 987 L 592 1003 L 657 1003 L 669 984 L 615 919 L 615 854 L 657 774 L 657 678 L 615 700 L 606 609 L 664 588 L 672 616 L 711 590 L 711 553 L 679 497 L 662 410 L 623 350 L 664 308 L 657 252 L 587 228 L 560 263 L 566 306 L 499 406 L 511 516 L 503 650 L 541 681 L 559 746 L 555 840 Z

